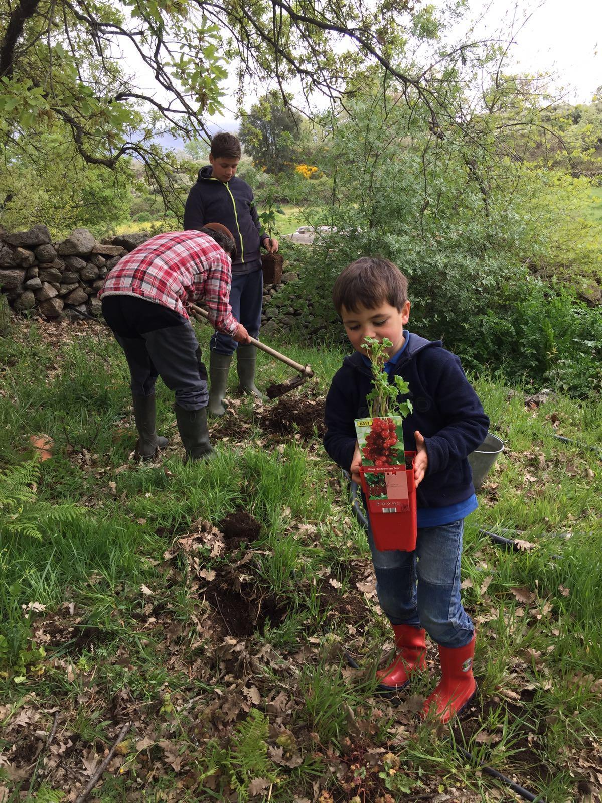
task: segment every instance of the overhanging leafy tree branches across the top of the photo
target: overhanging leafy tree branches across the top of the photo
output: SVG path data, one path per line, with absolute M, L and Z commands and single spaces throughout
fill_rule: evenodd
M 209 137 L 204 121 L 221 108 L 229 60 L 241 92 L 250 81 L 276 79 L 283 88 L 295 79 L 306 95 L 331 98 L 358 69 L 378 63 L 433 117 L 453 119 L 440 66 L 465 62 L 470 47 L 442 50 L 440 24 L 432 6 L 388 0 L 336 7 L 311 0 L 303 8 L 282 0 L 0 0 L 0 143 L 18 152 L 50 135 L 71 143 L 82 165 L 114 169 L 139 159 L 148 185 L 178 218 L 181 171 L 158 137 Z M 433 43 L 425 59 L 436 67 L 400 71 L 409 38 Z M 18 153 L 10 159 L 29 167 Z

